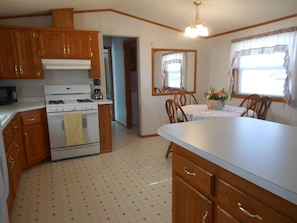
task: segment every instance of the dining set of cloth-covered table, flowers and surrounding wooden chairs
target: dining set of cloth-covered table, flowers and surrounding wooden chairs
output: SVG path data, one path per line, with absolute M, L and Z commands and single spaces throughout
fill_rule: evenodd
M 188 91 L 177 91 L 174 97 L 165 102 L 170 123 L 199 121 L 213 118 L 249 117 L 266 120 L 272 99 L 259 94 L 247 95 L 238 105 L 226 105 L 230 95 L 224 89 L 211 89 L 205 92 L 206 104 L 198 102 Z M 168 158 L 172 143 L 168 145 L 165 157 Z

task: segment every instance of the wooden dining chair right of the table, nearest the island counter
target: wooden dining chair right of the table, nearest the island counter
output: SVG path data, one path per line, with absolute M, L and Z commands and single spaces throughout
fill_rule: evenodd
M 249 116 L 252 118 L 266 120 L 268 110 L 271 106 L 271 97 L 264 96 L 254 101 L 247 109 L 243 112 L 241 116 Z M 251 114 L 251 111 L 253 114 Z

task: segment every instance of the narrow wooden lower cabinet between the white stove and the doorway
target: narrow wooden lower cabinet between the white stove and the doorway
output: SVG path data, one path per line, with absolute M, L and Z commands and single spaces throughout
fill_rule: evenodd
M 112 151 L 112 129 L 110 105 L 99 105 L 99 134 L 100 134 L 100 153 Z

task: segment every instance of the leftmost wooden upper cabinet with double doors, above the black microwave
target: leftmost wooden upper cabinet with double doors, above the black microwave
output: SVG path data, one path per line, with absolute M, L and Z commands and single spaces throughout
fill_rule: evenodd
M 0 78 L 43 78 L 34 31 L 0 28 Z

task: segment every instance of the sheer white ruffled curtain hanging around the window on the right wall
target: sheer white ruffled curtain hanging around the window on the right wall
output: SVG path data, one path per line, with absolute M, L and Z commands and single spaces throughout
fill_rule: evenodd
M 230 90 L 233 87 L 233 69 L 239 68 L 241 56 L 284 52 L 284 67 L 287 78 L 284 84 L 284 99 L 292 107 L 297 98 L 297 27 L 232 40 L 231 42 Z

